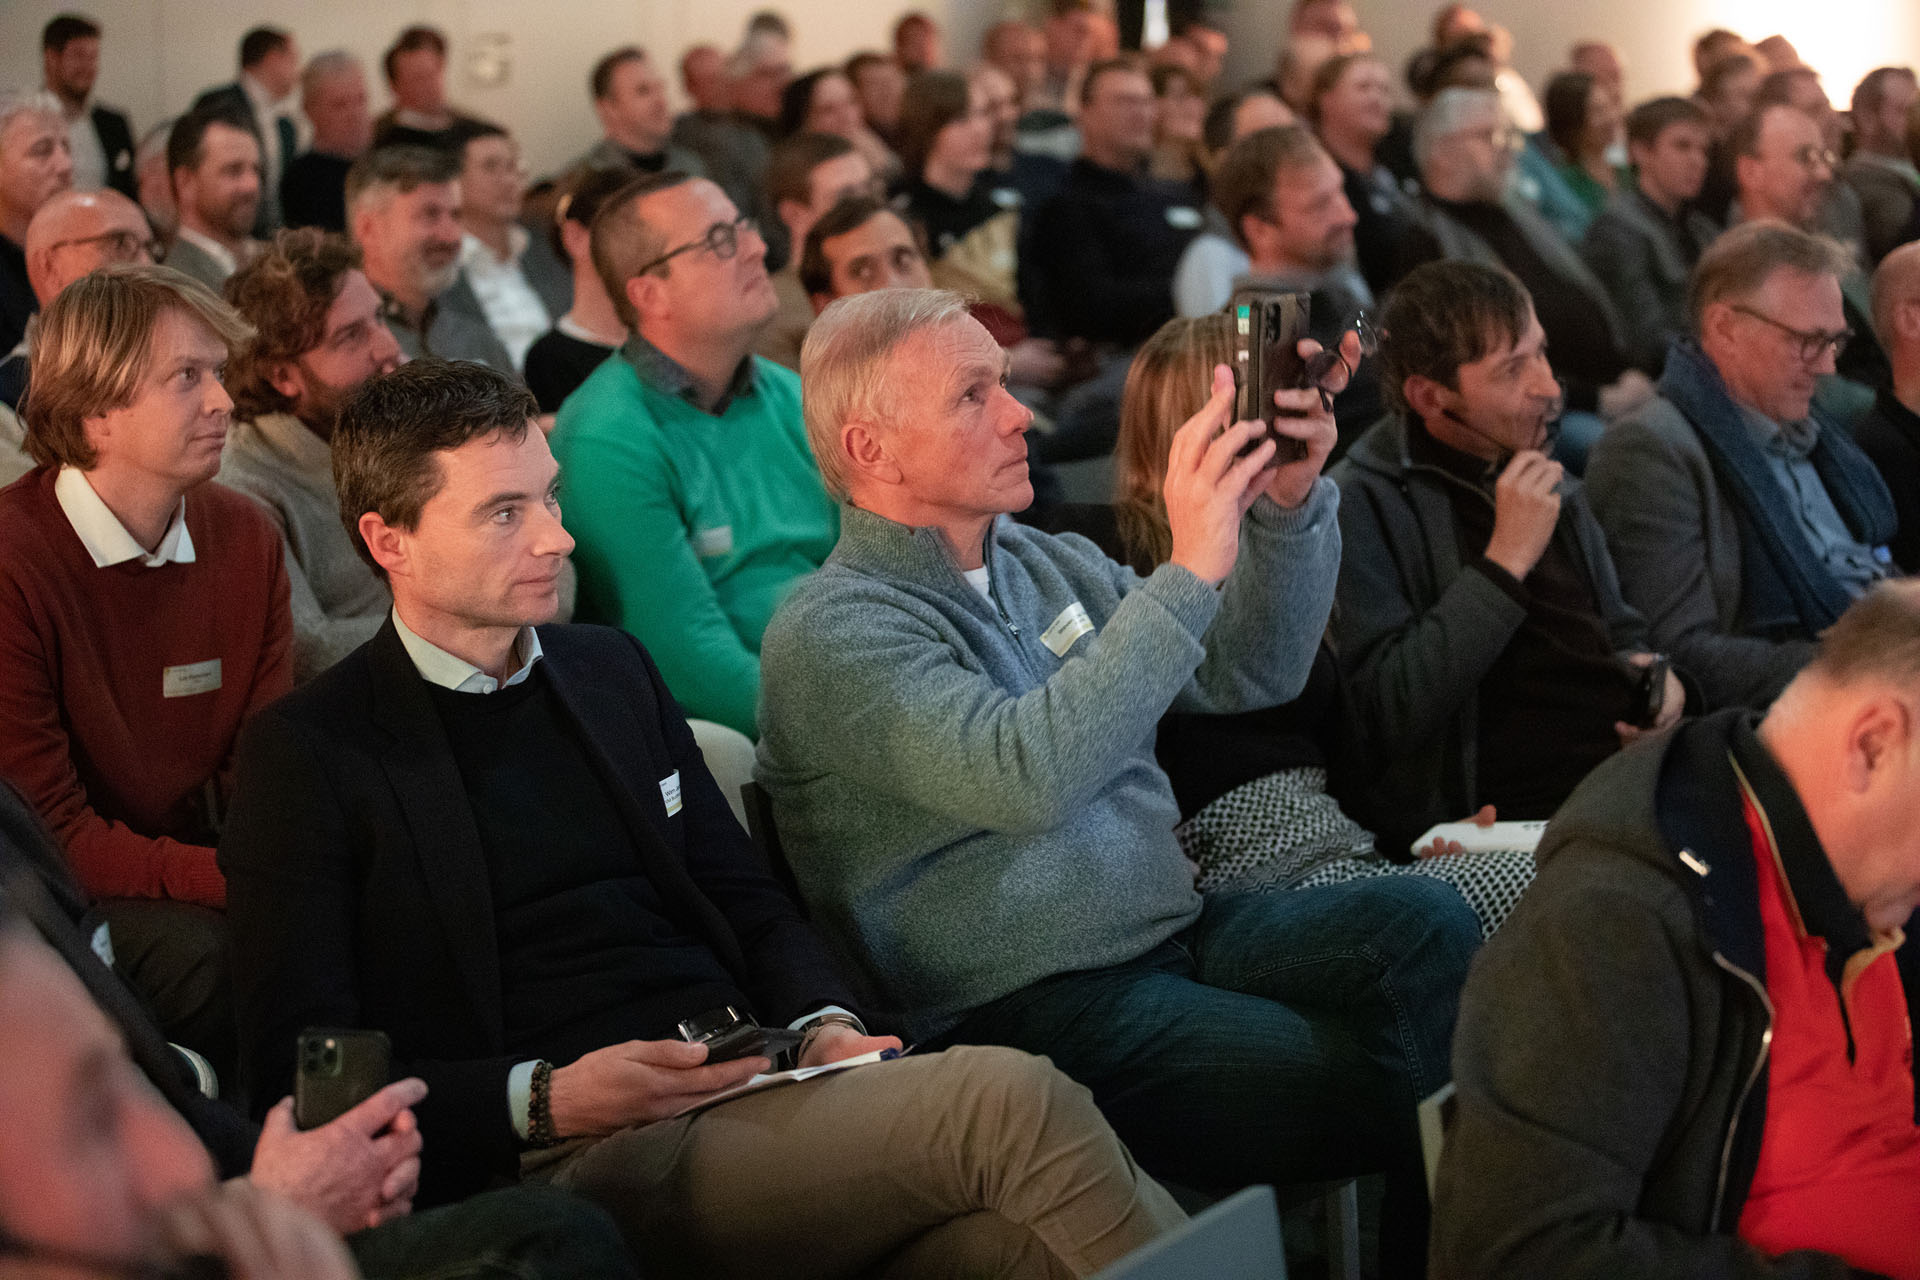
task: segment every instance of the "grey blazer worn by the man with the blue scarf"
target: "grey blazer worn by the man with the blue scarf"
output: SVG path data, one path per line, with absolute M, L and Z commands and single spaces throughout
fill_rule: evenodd
M 1812 658 L 1807 639 L 1743 635 L 1740 522 L 1693 424 L 1665 397 L 1611 424 L 1586 462 L 1626 599 L 1709 706 L 1764 706 Z

